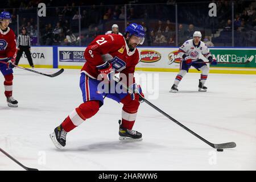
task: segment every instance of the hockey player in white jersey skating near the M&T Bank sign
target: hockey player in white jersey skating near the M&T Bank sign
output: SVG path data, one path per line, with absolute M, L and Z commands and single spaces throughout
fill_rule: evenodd
M 193 39 L 187 40 L 179 48 L 178 56 L 181 57 L 180 72 L 177 74 L 174 85 L 172 85 L 170 92 L 178 91 L 177 86 L 179 85 L 179 82 L 189 71 L 191 66 L 196 68 L 198 71 L 201 71 L 201 78 L 199 79 L 199 91 L 207 91 L 207 87 L 204 86 L 204 84 L 208 77 L 209 68 L 207 64 L 202 63 L 204 61 L 199 59 L 199 56 L 202 54 L 212 65 L 216 65 L 217 61 L 216 59 L 213 59 L 208 47 L 204 42 L 201 41 L 201 37 L 201 32 L 195 31 L 193 34 Z

